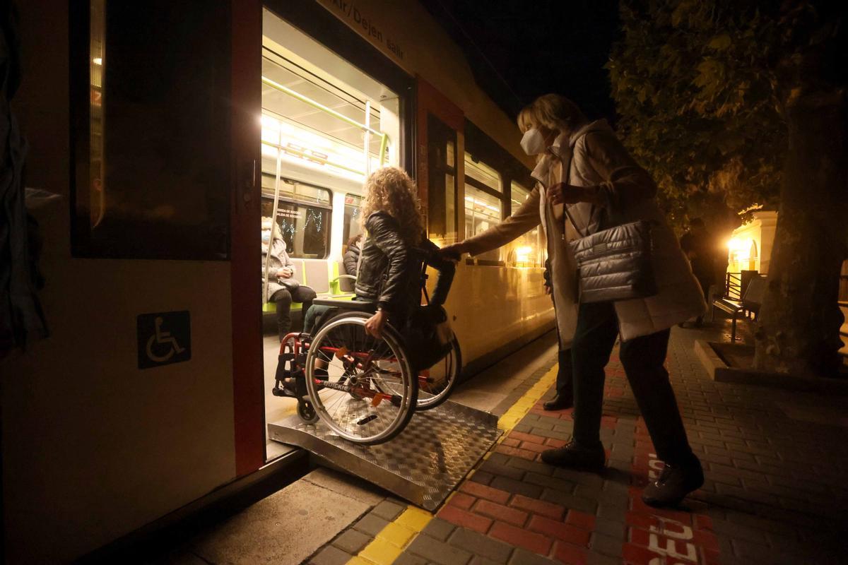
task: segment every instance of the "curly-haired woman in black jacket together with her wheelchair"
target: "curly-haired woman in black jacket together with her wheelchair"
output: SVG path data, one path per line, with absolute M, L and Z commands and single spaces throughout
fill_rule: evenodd
M 305 421 L 374 444 L 398 435 L 413 411 L 444 402 L 461 360 L 441 308 L 455 263 L 427 240 L 410 177 L 392 167 L 371 174 L 361 218 L 354 300 L 315 300 L 304 333 L 283 342 L 274 394 L 297 397 Z M 438 280 L 422 307 L 427 266 Z

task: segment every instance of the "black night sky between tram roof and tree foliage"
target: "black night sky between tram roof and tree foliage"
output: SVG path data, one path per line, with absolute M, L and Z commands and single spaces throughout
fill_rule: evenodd
M 615 121 L 603 68 L 618 34 L 617 0 L 422 0 L 465 50 L 477 84 L 515 117 L 558 92 L 589 119 Z

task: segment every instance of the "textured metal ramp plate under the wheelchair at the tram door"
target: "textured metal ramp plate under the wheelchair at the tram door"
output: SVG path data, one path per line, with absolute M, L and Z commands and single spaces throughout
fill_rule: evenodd
M 498 418 L 455 402 L 415 413 L 403 433 L 377 446 L 343 440 L 322 422 L 304 424 L 297 416 L 268 424 L 272 440 L 303 447 L 427 510 L 447 498 L 501 433 Z

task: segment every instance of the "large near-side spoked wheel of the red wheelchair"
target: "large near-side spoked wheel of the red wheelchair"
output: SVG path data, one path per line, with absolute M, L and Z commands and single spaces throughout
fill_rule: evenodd
M 345 440 L 377 444 L 391 440 L 409 423 L 418 393 L 398 333 L 365 334 L 371 314 L 342 313 L 321 327 L 306 356 L 306 389 L 315 412 Z M 326 377 L 315 379 L 324 368 Z

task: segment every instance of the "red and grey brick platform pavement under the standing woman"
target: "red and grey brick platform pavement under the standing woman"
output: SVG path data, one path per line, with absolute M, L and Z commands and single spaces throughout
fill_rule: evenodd
M 394 562 L 848 562 L 845 429 L 836 420 L 797 419 L 786 410 L 844 414 L 841 403 L 711 381 L 693 352 L 696 337 L 719 337 L 709 332 L 673 330 L 667 357 L 689 440 L 706 474 L 704 487 L 683 507 L 658 511 L 641 502 L 641 490 L 661 462 L 614 355 L 601 429 L 609 459 L 605 473 L 541 463 L 540 451 L 568 440 L 572 419 L 571 411 L 544 412 L 538 402 L 420 534 L 401 538 L 409 541 L 398 546 Z M 346 562 L 405 507 L 388 504 L 393 506 L 366 514 L 311 562 Z

